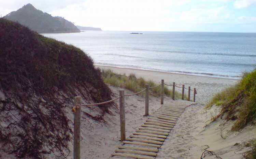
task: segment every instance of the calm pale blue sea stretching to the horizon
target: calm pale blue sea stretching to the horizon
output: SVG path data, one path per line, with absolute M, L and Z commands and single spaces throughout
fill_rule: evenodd
M 95 64 L 239 78 L 256 68 L 256 33 L 86 31 L 43 34 L 81 48 Z

